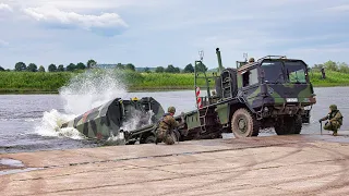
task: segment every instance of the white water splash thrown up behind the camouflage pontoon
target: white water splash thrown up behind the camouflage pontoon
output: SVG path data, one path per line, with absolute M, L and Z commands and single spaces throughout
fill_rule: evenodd
M 59 89 L 59 95 L 64 101 L 64 113 L 57 110 L 44 112 L 41 122 L 35 127 L 35 132 L 41 136 L 85 138 L 75 128 L 60 128 L 60 126 L 95 107 L 116 97 L 124 96 L 127 90 L 121 74 L 112 70 L 96 69 L 73 77 L 67 86 Z

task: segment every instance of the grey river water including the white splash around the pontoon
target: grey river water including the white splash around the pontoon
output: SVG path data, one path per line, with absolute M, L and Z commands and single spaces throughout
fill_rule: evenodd
M 108 89 L 101 89 L 107 90 L 101 94 L 95 89 L 98 87 L 89 86 L 86 90 L 70 86 L 59 95 L 0 95 L 0 154 L 98 146 L 73 130 L 62 131 L 58 127 L 74 115 L 115 97 L 129 99 L 151 96 L 159 101 L 164 109 L 174 106 L 177 114 L 195 109 L 193 90 L 127 93 L 120 86 L 109 86 Z M 349 87 L 314 90 L 317 103 L 311 111 L 311 123 L 303 125 L 301 134 L 320 134 L 318 119 L 328 112 L 330 103 L 336 103 L 345 117 L 341 130 L 349 130 Z M 75 94 L 71 94 L 72 91 Z M 275 133 L 272 131 L 269 134 Z

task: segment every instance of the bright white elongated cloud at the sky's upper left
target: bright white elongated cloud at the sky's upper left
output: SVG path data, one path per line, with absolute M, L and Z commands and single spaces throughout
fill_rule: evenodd
M 117 13 L 101 13 L 100 15 L 64 12 L 56 8 L 27 8 L 23 12 L 31 19 L 47 26 L 57 28 L 79 27 L 104 36 L 120 34 L 128 24 Z

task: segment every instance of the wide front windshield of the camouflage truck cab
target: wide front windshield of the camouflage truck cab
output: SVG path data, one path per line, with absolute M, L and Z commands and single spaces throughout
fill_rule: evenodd
M 306 83 L 306 66 L 301 61 L 266 61 L 261 68 L 266 83 Z

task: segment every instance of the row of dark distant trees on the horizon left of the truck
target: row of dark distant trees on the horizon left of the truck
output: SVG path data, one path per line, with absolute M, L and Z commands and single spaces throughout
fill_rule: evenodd
M 86 64 L 83 62 L 79 62 L 77 64 L 70 63 L 64 68 L 63 64 L 59 64 L 58 66 L 53 63 L 48 65 L 47 71 L 48 72 L 74 72 L 76 70 L 85 70 L 85 69 L 92 69 L 97 65 L 97 62 L 93 59 L 88 60 Z M 129 70 L 129 71 L 137 71 L 137 69 L 132 64 L 122 64 L 118 63 L 116 64 L 115 69 L 118 70 Z M 139 69 L 140 70 L 140 69 Z M 196 65 L 197 71 L 207 71 L 207 66 L 203 63 Z M 10 69 L 5 70 L 2 66 L 0 66 L 0 71 L 12 71 Z M 29 63 L 26 65 L 24 62 L 17 62 L 14 65 L 14 72 L 46 72 L 45 68 L 40 65 L 39 68 L 35 63 Z M 156 72 L 156 73 L 193 73 L 194 72 L 194 66 L 190 63 L 188 64 L 183 70 L 181 70 L 178 66 L 173 66 L 172 64 L 169 64 L 167 68 L 164 66 L 157 66 L 155 69 L 151 68 L 144 68 L 141 69 L 140 72 L 145 72 L 145 73 L 151 73 L 151 72 Z

